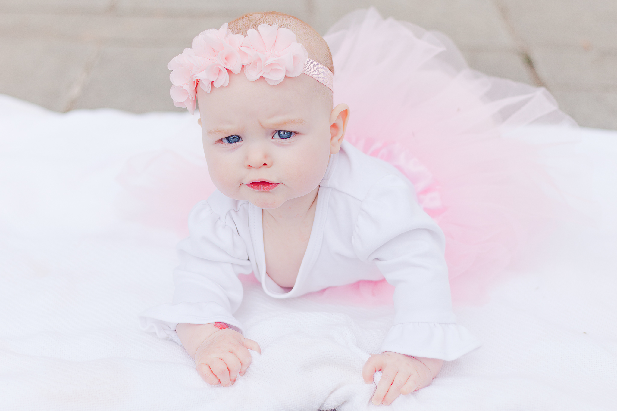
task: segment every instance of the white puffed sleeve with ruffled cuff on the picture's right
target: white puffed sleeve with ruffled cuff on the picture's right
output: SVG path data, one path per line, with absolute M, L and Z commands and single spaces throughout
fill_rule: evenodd
M 362 201 L 352 237 L 358 258 L 374 262 L 394 288 L 394 325 L 381 352 L 453 360 L 479 340 L 456 324 L 445 238 L 404 179 L 380 179 Z

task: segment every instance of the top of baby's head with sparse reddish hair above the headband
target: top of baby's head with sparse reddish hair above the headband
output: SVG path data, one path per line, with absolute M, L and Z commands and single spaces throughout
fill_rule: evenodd
M 334 73 L 332 54 L 330 53 L 328 43 L 317 31 L 297 17 L 279 12 L 249 13 L 230 22 L 228 28 L 234 35 L 246 36 L 246 31 L 249 28 L 257 30 L 257 26 L 260 24 L 276 24 L 279 27 L 288 28 L 293 31 L 296 34 L 296 41 L 301 43 L 309 52 L 309 59 L 324 65 Z

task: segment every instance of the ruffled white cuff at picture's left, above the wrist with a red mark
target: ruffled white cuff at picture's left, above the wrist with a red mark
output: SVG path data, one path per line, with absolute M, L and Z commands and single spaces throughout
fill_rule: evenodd
M 242 333 L 242 324 L 217 303 L 162 304 L 139 314 L 139 327 L 159 338 L 168 338 L 178 344 L 178 324 L 210 324 L 224 322 L 233 330 Z

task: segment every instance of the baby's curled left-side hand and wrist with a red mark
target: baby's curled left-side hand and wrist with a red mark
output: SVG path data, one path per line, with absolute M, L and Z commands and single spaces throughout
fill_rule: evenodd
M 178 324 L 176 333 L 184 349 L 195 360 L 195 368 L 205 382 L 228 387 L 244 375 L 251 364 L 251 353 L 262 352 L 259 344 L 231 328 L 212 324 Z M 218 323 L 222 324 L 222 323 Z

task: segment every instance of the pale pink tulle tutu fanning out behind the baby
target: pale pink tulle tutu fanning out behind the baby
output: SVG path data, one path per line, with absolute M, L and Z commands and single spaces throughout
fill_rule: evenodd
M 325 39 L 334 104 L 350 107 L 345 138 L 413 182 L 444 231 L 453 300 L 483 301 L 488 285 L 562 207 L 547 195 L 539 146 L 508 135 L 534 124 L 576 124 L 545 89 L 471 70 L 441 33 L 384 20 L 375 9 L 350 13 Z M 214 190 L 205 160 L 173 150 L 131 160 L 119 180 L 137 199 L 133 218 L 179 233 L 191 207 Z M 392 291 L 383 280 L 313 294 L 379 304 L 391 302 Z

